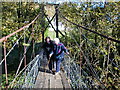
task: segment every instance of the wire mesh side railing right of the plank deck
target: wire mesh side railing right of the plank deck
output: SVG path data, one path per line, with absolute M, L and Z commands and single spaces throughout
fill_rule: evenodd
M 65 55 L 62 67 L 72 89 L 97 88 L 95 82 L 89 78 L 88 72 L 80 68 L 80 65 L 74 61 L 74 58 Z

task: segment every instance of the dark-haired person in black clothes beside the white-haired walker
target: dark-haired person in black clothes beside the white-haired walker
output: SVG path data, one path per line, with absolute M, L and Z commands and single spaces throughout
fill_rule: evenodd
M 46 52 L 47 59 L 49 60 L 48 63 L 49 70 L 52 73 L 53 61 L 52 58 L 49 58 L 49 54 L 53 50 L 53 41 L 50 39 L 50 37 L 45 38 L 45 43 L 43 44 L 43 48 Z

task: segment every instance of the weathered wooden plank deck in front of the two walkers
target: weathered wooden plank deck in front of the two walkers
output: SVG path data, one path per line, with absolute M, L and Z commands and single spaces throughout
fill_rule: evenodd
M 57 75 L 53 75 L 48 70 L 40 70 L 35 82 L 35 88 L 52 88 L 52 89 L 71 89 L 65 74 L 61 71 Z

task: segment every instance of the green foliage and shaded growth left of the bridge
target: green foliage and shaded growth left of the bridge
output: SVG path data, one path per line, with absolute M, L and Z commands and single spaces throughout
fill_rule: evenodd
M 7 36 L 19 28 L 23 27 L 24 25 L 30 23 L 39 13 L 41 14 L 42 11 L 40 10 L 40 6 L 37 3 L 33 2 L 2 2 L 2 27 L 0 30 L 2 31 L 2 37 Z M 7 57 L 7 66 L 8 66 L 8 79 L 9 83 L 14 79 L 14 75 L 12 71 L 17 70 L 18 65 L 20 63 L 21 58 L 24 55 L 24 46 L 28 48 L 26 53 L 26 59 L 29 63 L 33 56 L 38 52 L 34 51 L 33 48 L 39 49 L 37 45 L 35 45 L 36 41 L 41 40 L 41 31 L 42 25 L 40 24 L 41 16 L 38 18 L 37 21 L 33 25 L 30 25 L 28 28 L 25 28 L 23 31 L 15 34 L 14 36 L 10 37 L 7 40 L 6 48 L 7 52 L 11 49 L 14 43 L 22 36 L 20 41 L 16 44 L 12 52 Z M 47 23 L 46 23 L 47 24 Z M 24 32 L 25 31 L 25 32 Z M 25 33 L 23 35 L 23 33 Z M 29 44 L 29 38 L 31 37 L 31 43 Z M 25 42 L 24 42 L 25 41 Z M 34 46 L 34 47 L 33 47 Z M 34 54 L 34 55 L 33 55 Z M 23 68 L 24 63 L 20 70 Z M 4 75 L 4 64 L 2 65 L 2 87 L 5 87 L 5 75 Z M 14 73 L 15 73 L 14 72 Z

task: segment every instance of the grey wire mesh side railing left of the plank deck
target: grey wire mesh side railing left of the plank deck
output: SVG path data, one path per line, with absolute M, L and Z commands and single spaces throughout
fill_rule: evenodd
M 40 53 L 27 65 L 26 68 L 24 68 L 24 70 L 22 70 L 21 74 L 18 74 L 19 76 L 17 76 L 13 82 L 10 83 L 9 87 L 34 88 L 39 68 L 42 66 L 42 61 L 44 61 L 43 59 L 45 59 L 44 50 L 41 49 Z

